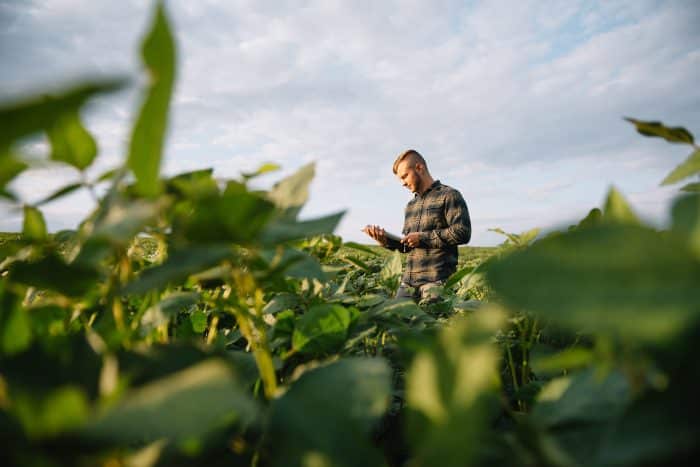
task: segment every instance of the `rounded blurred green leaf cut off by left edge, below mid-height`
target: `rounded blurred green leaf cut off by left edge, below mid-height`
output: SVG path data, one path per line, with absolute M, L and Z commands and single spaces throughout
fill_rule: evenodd
M 0 352 L 21 352 L 31 343 L 31 325 L 21 299 L 0 282 Z

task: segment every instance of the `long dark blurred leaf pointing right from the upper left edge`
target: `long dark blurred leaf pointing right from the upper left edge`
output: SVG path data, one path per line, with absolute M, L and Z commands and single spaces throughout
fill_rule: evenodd
M 0 106 L 0 152 L 25 136 L 45 131 L 66 113 L 76 112 L 95 94 L 113 92 L 124 80 L 104 80 L 80 84 L 58 95 L 41 95 Z

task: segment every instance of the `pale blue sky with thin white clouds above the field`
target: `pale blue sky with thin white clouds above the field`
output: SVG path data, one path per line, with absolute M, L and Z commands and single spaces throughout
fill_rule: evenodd
M 405 149 L 461 191 L 474 246 L 565 228 L 615 186 L 653 225 L 680 185 L 660 181 L 687 146 L 638 135 L 630 116 L 700 139 L 700 1 L 407 0 L 165 2 L 178 76 L 162 171 L 216 177 L 273 162 L 261 188 L 316 163 L 302 217 L 347 210 L 336 233 L 399 233 L 413 196 L 391 171 Z M 83 118 L 100 147 L 89 176 L 126 157 L 145 83 L 139 47 L 154 3 L 0 0 L 0 101 L 85 77 L 132 85 Z M 79 179 L 46 162 L 10 188 L 33 203 Z M 76 193 L 42 207 L 52 231 L 94 207 Z M 0 204 L 0 231 L 22 213 Z

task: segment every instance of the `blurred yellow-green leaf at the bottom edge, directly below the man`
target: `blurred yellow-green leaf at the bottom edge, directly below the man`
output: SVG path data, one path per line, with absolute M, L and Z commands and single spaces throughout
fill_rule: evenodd
M 406 403 L 416 465 L 480 465 L 499 409 L 500 355 L 492 339 L 502 323 L 496 309 L 453 319 L 413 358 Z

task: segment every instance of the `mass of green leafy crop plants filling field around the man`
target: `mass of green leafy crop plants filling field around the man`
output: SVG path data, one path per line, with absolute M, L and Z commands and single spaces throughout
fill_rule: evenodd
M 94 179 L 80 109 L 121 80 L 0 105 L 3 465 L 686 465 L 700 455 L 700 184 L 671 225 L 622 194 L 546 236 L 463 248 L 435 303 L 393 299 L 399 253 L 300 219 L 313 166 L 160 175 L 176 52 L 158 5 L 122 166 Z M 631 120 L 694 151 L 682 128 Z M 23 204 L 27 137 L 81 182 Z M 97 207 L 49 234 L 42 206 Z

